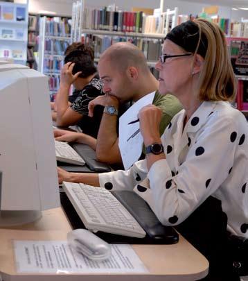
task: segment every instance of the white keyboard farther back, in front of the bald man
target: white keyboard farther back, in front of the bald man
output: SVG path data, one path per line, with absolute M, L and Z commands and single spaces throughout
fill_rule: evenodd
M 85 160 L 69 145 L 67 142 L 58 142 L 55 140 L 55 151 L 57 161 L 85 165 Z

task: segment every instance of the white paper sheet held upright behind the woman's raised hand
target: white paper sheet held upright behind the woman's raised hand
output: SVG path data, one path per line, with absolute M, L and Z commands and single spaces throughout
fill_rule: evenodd
M 129 122 L 136 120 L 139 110 L 145 105 L 152 104 L 155 92 L 143 96 L 136 101 L 131 108 L 121 115 L 119 119 L 119 148 L 125 170 L 129 169 L 136 162 L 142 153 L 143 137 L 141 133 L 134 133 L 139 130 L 139 122 L 128 125 Z M 131 137 L 134 135 L 134 137 Z

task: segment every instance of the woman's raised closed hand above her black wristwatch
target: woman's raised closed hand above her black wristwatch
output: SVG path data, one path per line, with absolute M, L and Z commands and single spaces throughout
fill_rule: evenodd
M 145 146 L 160 141 L 159 125 L 162 112 L 155 105 L 146 105 L 139 111 L 139 128 Z

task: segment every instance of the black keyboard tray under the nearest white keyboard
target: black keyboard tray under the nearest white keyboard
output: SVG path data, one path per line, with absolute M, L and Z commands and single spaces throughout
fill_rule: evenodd
M 118 194 L 119 192 L 120 191 L 113 192 L 116 198 L 120 196 L 120 194 Z M 132 191 L 124 191 L 124 193 L 125 192 L 132 192 Z M 134 194 L 134 192 L 132 193 Z M 135 195 L 138 196 L 137 194 Z M 129 196 L 130 194 L 128 195 L 121 194 L 122 199 L 118 198 L 118 200 L 120 200 L 123 203 L 123 205 L 125 205 L 124 201 L 126 201 L 126 197 Z M 142 227 L 143 225 L 146 225 L 147 229 L 145 229 L 144 227 L 143 228 L 145 229 L 146 232 L 149 232 L 149 235 L 147 234 L 145 238 L 135 238 L 135 237 L 122 236 L 122 235 L 114 235 L 111 233 L 100 232 L 100 231 L 96 232 L 96 235 L 104 239 L 108 243 L 114 243 L 114 244 L 175 244 L 177 243 L 179 238 L 174 228 L 170 226 L 161 225 L 161 223 L 159 223 L 157 217 L 154 215 L 148 204 L 145 203 L 145 201 L 143 201 L 143 199 L 138 196 L 141 199 L 140 201 L 139 198 L 138 199 L 136 198 L 136 196 L 134 196 L 134 198 L 132 198 L 131 196 L 130 200 L 133 202 L 135 200 L 136 203 L 138 204 L 142 202 L 140 205 L 141 207 L 137 205 L 135 209 L 139 210 L 138 216 L 141 218 L 142 221 L 145 219 L 144 216 L 148 218 L 148 221 L 141 223 L 141 221 L 137 219 L 137 216 L 135 216 L 129 209 L 127 210 L 129 210 L 130 213 L 136 218 L 136 220 L 139 221 Z M 85 225 L 82 223 L 80 217 L 78 216 L 76 210 L 71 204 L 71 201 L 69 201 L 69 198 L 67 197 L 67 194 L 65 194 L 65 192 L 60 192 L 60 201 L 64 209 L 64 212 L 66 212 L 67 217 L 71 223 L 71 227 L 73 229 L 85 228 Z M 143 205 L 143 203 L 145 203 L 146 206 Z M 157 230 L 155 228 L 157 228 Z

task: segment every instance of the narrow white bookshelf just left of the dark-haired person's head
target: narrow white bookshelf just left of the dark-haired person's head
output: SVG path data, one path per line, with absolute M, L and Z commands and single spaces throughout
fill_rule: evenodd
M 68 17 L 39 18 L 38 71 L 48 76 L 51 101 L 60 86 L 60 69 L 64 51 L 71 42 L 71 23 Z

